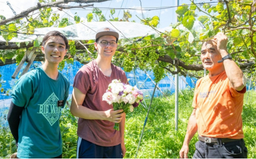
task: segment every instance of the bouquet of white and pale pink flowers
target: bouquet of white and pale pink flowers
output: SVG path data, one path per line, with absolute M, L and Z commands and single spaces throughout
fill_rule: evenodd
M 108 85 L 102 100 L 113 104 L 114 110 L 123 109 L 127 114 L 133 112 L 133 108 L 143 100 L 143 93 L 136 86 L 132 87 L 115 79 Z M 119 123 L 115 123 L 114 129 L 119 130 Z

